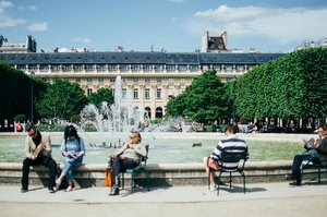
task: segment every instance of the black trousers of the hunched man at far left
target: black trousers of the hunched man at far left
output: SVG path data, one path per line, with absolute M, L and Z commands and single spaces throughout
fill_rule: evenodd
M 57 174 L 57 162 L 50 156 L 38 155 L 35 160 L 29 158 L 25 158 L 23 160 L 23 174 L 22 174 L 22 188 L 28 189 L 28 176 L 29 176 L 29 167 L 36 165 L 44 165 L 49 168 L 49 182 L 48 189 L 52 189 L 56 185 L 56 174 Z

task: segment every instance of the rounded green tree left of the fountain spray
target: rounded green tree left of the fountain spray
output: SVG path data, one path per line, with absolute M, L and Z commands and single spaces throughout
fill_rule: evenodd
M 57 77 L 41 95 L 36 108 L 45 118 L 69 120 L 73 114 L 80 113 L 86 104 L 87 97 L 78 84 Z

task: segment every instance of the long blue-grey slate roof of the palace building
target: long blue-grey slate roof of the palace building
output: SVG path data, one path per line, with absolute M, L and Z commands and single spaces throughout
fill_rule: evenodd
M 197 53 L 197 52 L 28 52 L 0 53 L 9 64 L 258 64 L 284 53 Z

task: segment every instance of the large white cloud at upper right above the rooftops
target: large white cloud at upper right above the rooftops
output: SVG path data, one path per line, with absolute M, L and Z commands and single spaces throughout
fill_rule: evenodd
M 264 36 L 281 44 L 327 36 L 327 8 L 276 9 L 263 7 L 230 8 L 198 11 L 187 28 L 198 34 L 205 31 L 229 35 Z

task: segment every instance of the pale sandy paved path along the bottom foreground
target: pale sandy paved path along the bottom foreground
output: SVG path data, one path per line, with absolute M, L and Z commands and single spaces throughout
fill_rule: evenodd
M 31 186 L 21 193 L 19 186 L 0 185 L 0 216 L 311 216 L 327 215 L 327 185 L 311 183 L 292 188 L 288 183 L 252 183 L 220 195 L 207 186 L 156 188 L 130 194 L 121 191 L 108 196 L 108 188 L 75 189 L 49 194 L 46 188 Z

